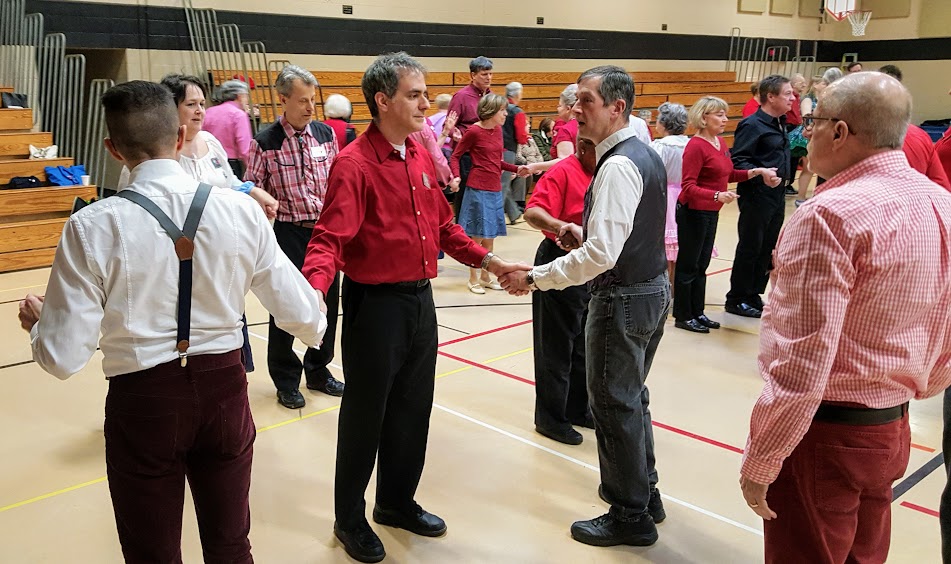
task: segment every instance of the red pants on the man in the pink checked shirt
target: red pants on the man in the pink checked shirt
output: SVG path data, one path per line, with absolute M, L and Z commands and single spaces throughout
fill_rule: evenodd
M 908 416 L 884 425 L 813 421 L 766 500 L 767 563 L 885 562 L 892 482 L 908 466 Z

